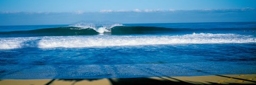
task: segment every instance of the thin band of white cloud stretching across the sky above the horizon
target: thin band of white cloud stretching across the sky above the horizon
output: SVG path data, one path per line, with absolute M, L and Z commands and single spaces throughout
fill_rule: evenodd
M 226 8 L 226 9 L 201 9 L 201 10 L 162 10 L 162 9 L 146 9 L 140 10 L 138 8 L 134 10 L 100 10 L 100 13 L 122 13 L 122 12 L 134 12 L 134 13 L 152 13 L 152 12 L 215 12 L 215 13 L 227 13 L 227 12 L 249 12 L 256 11 L 255 8 Z M 92 13 L 86 11 L 73 11 L 73 12 L 20 12 L 20 11 L 0 11 L 0 14 L 52 14 L 52 13 L 72 13 L 72 14 L 85 14 Z

